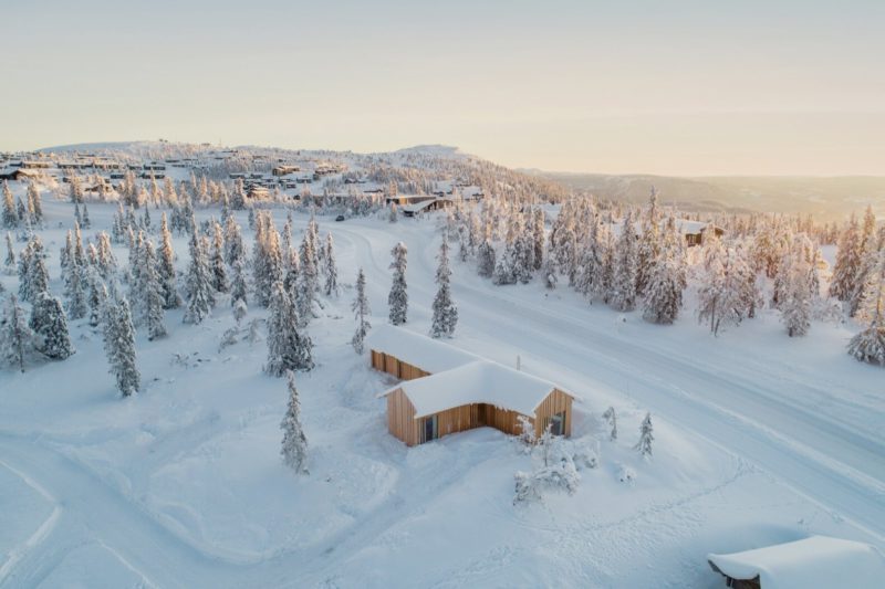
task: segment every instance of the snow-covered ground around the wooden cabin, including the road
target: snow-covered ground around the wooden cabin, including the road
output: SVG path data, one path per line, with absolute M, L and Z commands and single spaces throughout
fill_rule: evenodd
M 43 206 L 60 294 L 73 207 Z M 113 211 L 90 204 L 86 233 Z M 306 221 L 295 214 L 296 232 Z M 287 389 L 261 370 L 266 343 L 243 334 L 219 348 L 235 325 L 228 301 L 198 326 L 168 313 L 164 339 L 139 334 L 143 390 L 127 400 L 100 335 L 73 322 L 73 357 L 0 372 L 0 586 L 712 588 L 722 579 L 708 553 L 810 534 L 885 546 L 885 372 L 845 354 L 846 327 L 815 323 L 791 339 L 763 312 L 714 338 L 690 313 L 650 325 L 564 287 L 496 287 L 455 262 L 452 344 L 511 366 L 519 355 L 576 393 L 573 434 L 601 446 L 576 494 L 514 506 L 513 473 L 530 456 L 487 428 L 405 448 L 375 398 L 393 381 L 348 344 L 356 270 L 384 323 L 400 240 L 407 327 L 428 330 L 436 219 L 320 222 L 347 284 L 322 299 L 309 328 L 317 367 L 298 376 L 310 475 L 280 459 Z M 186 240 L 175 245 L 184 269 Z M 263 315 L 251 306 L 248 319 Z M 616 442 L 601 418 L 610 406 Z M 632 449 L 646 411 L 650 461 Z

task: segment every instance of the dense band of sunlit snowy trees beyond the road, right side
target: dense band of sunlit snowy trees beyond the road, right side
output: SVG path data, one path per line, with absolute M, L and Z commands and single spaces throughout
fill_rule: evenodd
M 885 365 L 883 264 L 885 228 L 867 208 L 842 228 L 808 217 L 731 217 L 716 220 L 717 238 L 688 248 L 679 224 L 653 190 L 642 209 L 566 200 L 548 221 L 540 202 L 488 198 L 479 208 L 448 210 L 445 234 L 493 284 L 525 284 L 541 276 L 546 288 L 566 284 L 589 304 L 620 312 L 638 309 L 649 323 L 673 324 L 695 290 L 695 315 L 714 335 L 775 309 L 790 337 L 808 334 L 813 320 L 857 320 L 861 333 L 848 353 Z M 830 276 L 821 244 L 837 236 Z M 825 273 L 827 276 L 823 276 Z M 829 286 L 827 286 L 829 281 Z

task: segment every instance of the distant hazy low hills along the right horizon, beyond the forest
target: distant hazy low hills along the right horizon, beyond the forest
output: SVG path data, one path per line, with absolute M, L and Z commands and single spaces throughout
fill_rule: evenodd
M 701 177 L 548 172 L 542 176 L 601 199 L 645 202 L 654 186 L 660 200 L 687 211 L 812 213 L 841 219 L 867 204 L 885 217 L 885 177 Z

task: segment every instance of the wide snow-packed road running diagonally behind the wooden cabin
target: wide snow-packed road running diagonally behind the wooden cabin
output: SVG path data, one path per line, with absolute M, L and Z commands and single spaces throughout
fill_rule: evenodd
M 389 286 L 387 265 L 396 238 L 355 224 L 363 223 L 336 228 L 336 233 L 358 252 L 373 287 L 384 291 Z M 427 240 L 426 224 L 420 230 L 402 225 L 399 238 L 409 248 L 410 301 L 429 302 L 438 242 Z M 839 412 L 829 414 L 818 402 L 843 391 L 851 398 L 846 385 L 815 381 L 813 376 L 803 379 L 749 358 L 717 357 L 716 350 L 701 349 L 709 347 L 704 343 L 694 344 L 698 354 L 689 357 L 688 346 L 618 334 L 610 318 L 598 318 L 611 315 L 605 309 L 596 316 L 575 312 L 572 301 L 543 299 L 537 285 L 494 287 L 457 262 L 455 273 L 452 288 L 461 317 L 457 345 L 504 364 L 523 354 L 531 370 L 579 393 L 594 381 L 625 391 L 885 541 L 885 423 L 877 431 L 875 427 L 864 431 Z M 471 348 L 470 338 L 464 337 L 470 333 L 481 333 L 483 343 L 493 339 L 498 345 Z M 531 343 L 529 354 L 513 343 Z M 885 391 L 885 377 L 882 387 Z M 863 408 L 853 409 L 863 413 Z

